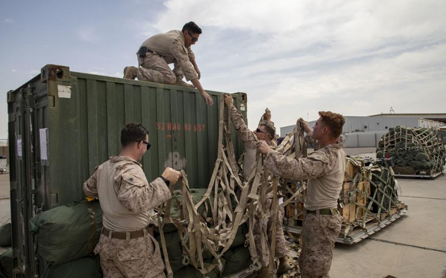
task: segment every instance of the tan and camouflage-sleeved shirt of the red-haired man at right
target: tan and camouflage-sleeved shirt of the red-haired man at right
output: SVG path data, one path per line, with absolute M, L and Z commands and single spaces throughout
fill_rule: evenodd
M 311 137 L 311 132 L 307 134 Z M 265 165 L 274 174 L 290 180 L 307 180 L 305 209 L 336 208 L 344 182 L 346 155 L 342 143 L 328 144 L 307 158 L 290 159 L 271 151 Z

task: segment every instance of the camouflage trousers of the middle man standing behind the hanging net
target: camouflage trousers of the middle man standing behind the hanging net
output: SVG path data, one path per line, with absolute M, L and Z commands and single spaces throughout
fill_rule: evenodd
M 267 211 L 271 210 L 273 206 L 273 199 L 267 198 L 265 201 L 265 208 Z M 283 215 L 285 211 L 283 208 L 277 211 L 277 219 L 275 222 L 275 256 L 274 257 L 284 257 L 288 255 L 288 246 L 283 236 Z M 268 219 L 267 232 L 268 232 L 268 243 L 271 246 L 271 239 L 273 238 L 273 217 Z M 253 233 L 254 233 L 254 242 L 255 248 L 259 255 L 259 261 L 262 263 L 262 266 L 268 266 L 270 264 L 270 250 L 268 248 L 268 244 L 265 241 L 265 237 L 263 236 L 263 229 L 265 224 L 257 219 L 254 224 Z

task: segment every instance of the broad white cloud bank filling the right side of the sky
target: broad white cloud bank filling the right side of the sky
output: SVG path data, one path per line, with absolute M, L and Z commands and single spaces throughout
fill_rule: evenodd
M 202 27 L 193 48 L 198 62 L 205 57 L 202 83 L 248 93 L 251 128 L 267 106 L 277 127 L 307 113 L 315 119 L 320 110 L 444 112 L 444 1 L 168 0 L 165 6 L 151 26 L 166 31 L 193 20 Z

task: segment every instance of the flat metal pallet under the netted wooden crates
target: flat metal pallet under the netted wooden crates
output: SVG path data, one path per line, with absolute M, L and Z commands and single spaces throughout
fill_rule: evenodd
M 349 232 L 348 234 L 340 234 L 338 239 L 336 240 L 336 242 L 342 243 L 342 244 L 348 244 L 348 245 L 358 243 L 361 240 L 369 237 L 373 233 L 378 232 L 379 230 L 388 226 L 389 224 L 394 222 L 396 219 L 400 218 L 404 213 L 407 212 L 407 210 L 408 210 L 407 207 L 405 207 L 404 209 L 401 209 L 396 214 L 393 214 L 390 218 L 384 218 L 380 222 L 374 222 L 374 221 L 368 222 L 364 229 L 362 229 L 360 227 L 356 227 L 355 229 L 353 229 L 353 231 Z M 343 224 L 343 228 L 344 228 L 344 226 L 345 225 Z M 349 226 L 349 225 L 347 225 L 347 226 Z M 295 234 L 300 234 L 301 229 L 302 229 L 302 227 L 300 227 L 300 226 L 284 226 L 283 227 L 283 231 L 291 232 L 291 233 L 295 233 Z M 343 230 L 345 230 L 345 229 L 343 229 Z

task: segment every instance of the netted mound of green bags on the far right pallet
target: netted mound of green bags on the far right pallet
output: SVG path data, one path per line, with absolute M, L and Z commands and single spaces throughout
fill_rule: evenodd
M 379 141 L 376 158 L 393 158 L 399 175 L 433 176 L 443 171 L 445 146 L 432 129 L 391 128 Z

